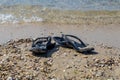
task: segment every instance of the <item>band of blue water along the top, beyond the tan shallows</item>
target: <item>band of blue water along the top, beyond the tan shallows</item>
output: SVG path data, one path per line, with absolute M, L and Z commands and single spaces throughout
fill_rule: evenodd
M 41 5 L 68 10 L 120 10 L 120 0 L 0 0 L 1 5 Z

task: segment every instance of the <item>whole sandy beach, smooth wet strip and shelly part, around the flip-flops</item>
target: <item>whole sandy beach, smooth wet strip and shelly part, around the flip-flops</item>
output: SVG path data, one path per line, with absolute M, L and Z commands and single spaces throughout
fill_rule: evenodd
M 0 79 L 120 80 L 119 26 L 0 25 Z M 78 36 L 93 46 L 95 52 L 82 54 L 62 47 L 47 55 L 33 55 L 29 51 L 31 39 L 48 35 L 60 36 L 62 33 Z M 9 42 L 6 43 L 7 41 Z

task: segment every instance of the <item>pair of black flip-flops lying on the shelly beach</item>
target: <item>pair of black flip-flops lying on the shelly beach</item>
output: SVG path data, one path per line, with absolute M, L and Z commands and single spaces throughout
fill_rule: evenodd
M 55 41 L 52 42 L 52 39 Z M 33 40 L 32 47 L 30 51 L 34 53 L 47 53 L 50 50 L 54 49 L 58 46 L 71 48 L 76 50 L 77 52 L 91 52 L 94 50 L 93 47 L 88 47 L 81 39 L 74 35 L 64 35 L 61 37 L 40 37 Z

